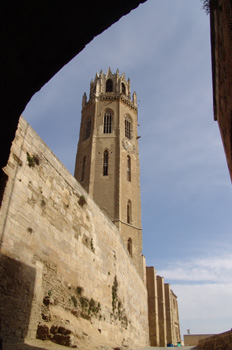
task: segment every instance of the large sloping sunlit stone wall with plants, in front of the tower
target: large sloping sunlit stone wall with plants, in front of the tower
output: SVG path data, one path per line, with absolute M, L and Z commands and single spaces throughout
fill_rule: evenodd
M 117 228 L 23 118 L 4 171 L 3 342 L 75 345 L 83 320 L 116 345 L 148 345 L 146 287 Z

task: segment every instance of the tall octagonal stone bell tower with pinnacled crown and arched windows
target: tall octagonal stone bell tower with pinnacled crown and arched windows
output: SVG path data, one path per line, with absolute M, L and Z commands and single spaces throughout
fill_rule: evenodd
M 74 176 L 118 227 L 143 278 L 137 119 L 124 73 L 96 74 L 82 100 Z

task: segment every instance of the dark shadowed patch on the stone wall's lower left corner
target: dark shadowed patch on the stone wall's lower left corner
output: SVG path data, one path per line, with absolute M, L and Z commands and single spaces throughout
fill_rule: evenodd
M 9 242 L 9 246 L 13 246 L 12 241 Z M 22 254 L 22 245 L 16 248 L 19 253 L 22 249 Z M 3 344 L 18 343 L 28 332 L 36 270 L 35 267 L 28 266 L 20 259 L 16 260 L 1 251 L 0 276 L 0 341 L 3 341 Z

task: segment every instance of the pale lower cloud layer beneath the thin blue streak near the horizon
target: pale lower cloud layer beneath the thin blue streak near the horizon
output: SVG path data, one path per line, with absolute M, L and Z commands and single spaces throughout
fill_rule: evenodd
M 172 285 L 182 334 L 217 334 L 232 326 L 232 283 Z

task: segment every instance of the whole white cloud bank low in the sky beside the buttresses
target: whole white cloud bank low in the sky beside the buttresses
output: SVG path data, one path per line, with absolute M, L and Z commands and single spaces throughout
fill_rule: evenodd
M 232 254 L 174 261 L 157 273 L 178 296 L 183 334 L 214 334 L 232 326 Z M 178 283 L 179 281 L 180 283 Z

